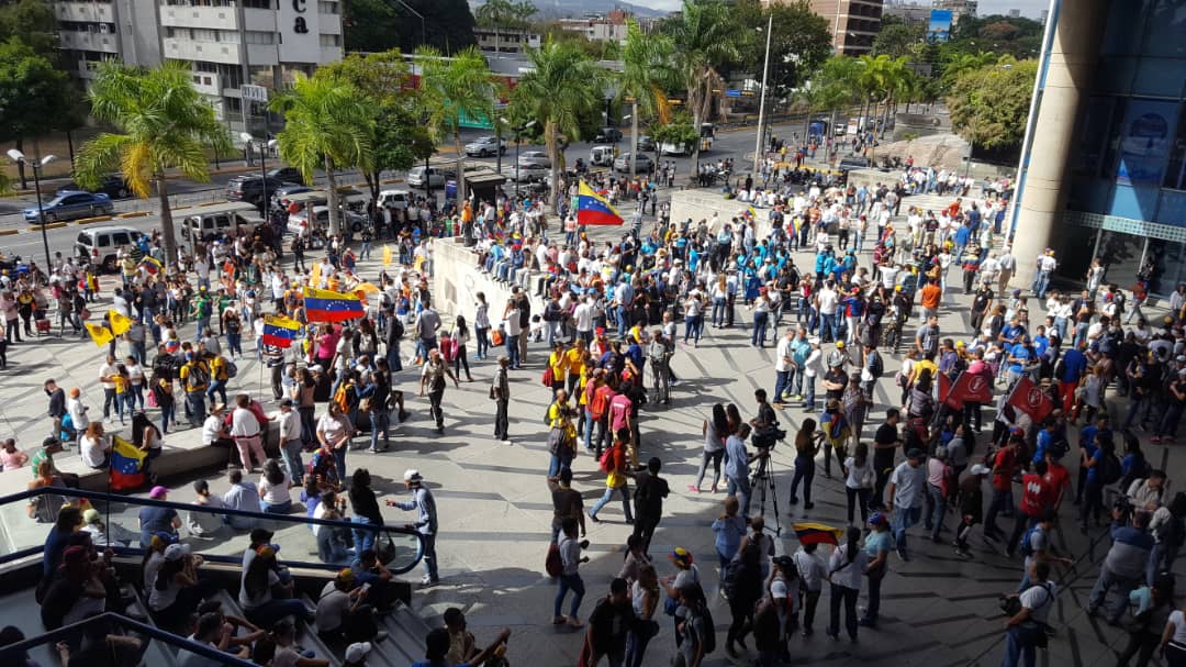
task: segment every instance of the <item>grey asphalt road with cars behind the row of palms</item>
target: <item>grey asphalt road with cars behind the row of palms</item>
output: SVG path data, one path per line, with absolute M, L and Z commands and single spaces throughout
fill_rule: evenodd
M 799 123 L 788 123 L 786 126 L 774 126 L 774 133 L 780 134 L 785 132 L 790 134 L 791 132 L 798 131 L 802 127 Z M 464 139 L 470 140 L 480 135 L 479 131 L 467 131 Z M 621 152 L 630 150 L 629 144 L 630 138 L 626 136 L 621 142 L 618 144 L 618 148 Z M 568 150 L 565 152 L 565 159 L 567 164 L 573 164 L 576 158 L 584 159 L 588 163 L 589 148 L 593 146 L 592 142 L 578 142 L 569 145 Z M 521 151 L 544 151 L 546 148 L 540 145 L 524 144 L 519 148 Z M 710 151 L 701 153 L 701 160 L 719 160 L 723 158 L 733 158 L 737 163 L 738 171 L 744 171 L 742 163 L 746 154 L 752 155 L 754 150 L 754 128 L 745 128 L 740 131 L 718 132 L 716 139 L 713 142 Z M 452 155 L 438 155 L 436 159 L 449 159 Z M 691 160 L 689 157 L 663 157 L 663 160 L 674 160 L 676 163 L 676 174 L 677 177 L 687 176 L 691 169 Z M 477 161 L 485 164 L 491 169 L 497 166 L 497 160 L 495 158 L 483 158 L 483 159 L 471 159 L 471 161 Z M 225 165 L 227 163 L 224 163 Z M 238 163 L 236 166 L 243 166 Z M 274 166 L 274 163 L 268 164 L 269 169 Z M 515 169 L 515 148 L 511 148 L 503 155 L 502 170 L 503 173 L 510 176 Z M 171 202 L 174 207 L 179 205 L 195 205 L 209 202 L 223 201 L 223 189 L 228 180 L 238 176 L 237 172 L 229 173 L 215 173 L 211 177 L 210 183 L 193 183 L 190 180 L 173 180 L 170 183 L 171 189 Z M 391 174 L 394 177 L 401 177 L 402 174 Z M 357 171 L 345 171 L 338 174 L 339 183 L 352 184 L 362 183 L 362 177 Z M 317 174 L 317 183 L 324 184 L 325 177 L 321 173 Z M 58 184 L 56 182 L 49 182 L 46 190 L 56 189 Z M 514 183 L 508 182 L 508 190 L 514 189 Z M 0 198 L 0 230 L 18 229 L 19 234 L 12 236 L 0 237 L 0 250 L 6 255 L 21 255 L 25 259 L 40 259 L 44 258 L 44 250 L 42 246 L 42 235 L 39 231 L 31 229 L 20 211 L 25 207 L 37 205 L 37 199 L 32 195 L 23 195 L 17 197 Z M 147 231 L 154 227 L 159 227 L 160 217 L 158 215 L 158 203 L 155 198 L 152 199 L 121 199 L 115 202 L 116 212 L 128 212 L 128 211 L 152 211 L 152 215 L 127 220 L 113 220 L 109 223 L 101 224 L 114 224 L 121 227 L 130 227 L 133 229 L 139 229 Z M 176 217 L 176 216 L 174 216 Z M 79 227 L 71 223 L 60 229 L 50 229 L 46 231 L 50 243 L 50 250 L 62 252 L 63 254 L 70 254 L 72 252 L 74 240 L 78 235 Z

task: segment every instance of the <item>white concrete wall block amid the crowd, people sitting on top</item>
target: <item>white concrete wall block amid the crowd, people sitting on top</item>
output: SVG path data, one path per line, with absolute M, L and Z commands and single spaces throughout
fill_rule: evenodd
M 538 273 L 538 272 L 533 272 Z M 531 285 L 534 281 L 528 281 Z M 511 285 L 495 282 L 482 272 L 478 253 L 457 239 L 433 241 L 433 303 L 436 310 L 452 315 L 464 315 L 473 320 L 473 307 L 478 303 L 474 294 L 482 292 L 490 304 L 490 324 L 497 328 L 503 306 L 511 296 Z M 543 299 L 531 294 L 531 313 L 543 312 Z

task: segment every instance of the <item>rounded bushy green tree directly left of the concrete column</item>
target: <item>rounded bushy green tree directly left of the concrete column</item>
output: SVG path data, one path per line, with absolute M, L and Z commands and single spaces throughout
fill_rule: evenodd
M 974 147 L 1008 151 L 1021 146 L 1037 61 L 1006 62 L 959 75 L 946 96 L 951 127 Z

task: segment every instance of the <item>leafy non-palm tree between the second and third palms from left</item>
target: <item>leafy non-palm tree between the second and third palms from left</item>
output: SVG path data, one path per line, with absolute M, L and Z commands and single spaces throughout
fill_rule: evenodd
M 371 159 L 363 178 L 377 198 L 384 171 L 406 171 L 436 151 L 421 122 L 420 93 L 408 85 L 408 65 L 396 51 L 351 53 L 317 70 L 317 76 L 351 85 L 371 117 Z

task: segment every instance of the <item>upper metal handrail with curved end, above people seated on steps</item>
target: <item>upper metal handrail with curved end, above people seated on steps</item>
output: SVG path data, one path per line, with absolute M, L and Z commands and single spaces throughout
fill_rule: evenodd
M 400 534 L 400 535 L 414 535 L 416 538 L 416 553 L 415 553 L 415 558 L 413 558 L 412 561 L 410 561 L 410 564 L 408 564 L 406 566 L 400 566 L 400 567 L 390 568 L 390 571 L 391 571 L 393 574 L 403 574 L 406 572 L 410 572 L 420 563 L 420 559 L 423 558 L 423 553 L 425 553 L 425 539 L 423 539 L 423 535 L 421 535 L 417 531 L 415 531 L 413 528 L 406 528 L 406 527 L 402 527 L 402 526 L 375 526 L 375 525 L 371 525 L 371 523 L 353 523 L 351 521 L 334 521 L 334 520 L 330 520 L 330 519 L 313 519 L 313 517 L 307 517 L 307 516 L 291 516 L 291 515 L 287 515 L 287 514 L 270 514 L 270 513 L 263 513 L 263 512 L 247 512 L 247 510 L 243 510 L 243 509 L 215 508 L 215 507 L 209 507 L 209 506 L 190 504 L 190 503 L 181 503 L 181 502 L 171 502 L 171 501 L 162 501 L 162 500 L 155 500 L 155 498 L 141 498 L 141 497 L 136 497 L 136 496 L 122 496 L 122 495 L 117 495 L 117 494 L 107 494 L 107 493 L 103 493 L 103 491 L 85 491 L 85 490 L 82 490 L 82 489 L 70 489 L 70 488 L 65 488 L 65 487 L 39 487 L 37 489 L 30 489 L 30 490 L 26 490 L 26 491 L 20 491 L 20 493 L 17 493 L 17 494 L 11 494 L 11 495 L 7 495 L 7 496 L 0 496 L 0 506 L 14 503 L 14 502 L 20 502 L 23 500 L 36 498 L 36 497 L 40 497 L 40 496 L 50 496 L 50 495 L 52 495 L 52 496 L 74 497 L 74 498 L 87 498 L 88 501 L 103 501 L 103 502 L 113 502 L 113 503 L 122 503 L 122 504 L 134 504 L 134 506 L 141 506 L 141 507 L 162 507 L 162 508 L 168 508 L 168 509 L 174 509 L 174 510 L 184 510 L 184 512 L 204 512 L 204 513 L 209 513 L 209 514 L 219 514 L 219 515 L 225 515 L 225 516 L 243 516 L 243 517 L 256 519 L 256 520 L 261 520 L 261 521 L 276 521 L 276 522 L 281 522 L 281 523 L 302 523 L 302 525 L 306 525 L 306 526 L 308 526 L 308 525 L 329 526 L 329 527 L 332 527 L 332 528 L 344 528 L 344 529 L 347 529 L 347 531 L 369 531 L 371 533 L 375 533 L 376 544 L 377 544 L 377 540 L 378 540 L 380 535 L 383 534 L 383 533 L 395 533 L 395 534 Z M 2 565 L 5 563 L 11 563 L 13 560 L 18 560 L 18 559 L 21 559 L 21 558 L 25 558 L 25 557 L 28 557 L 28 555 L 33 555 L 36 553 L 40 553 L 42 551 L 44 551 L 44 546 L 38 545 L 36 547 L 28 547 L 28 548 L 25 548 L 25 550 L 14 551 L 12 553 L 0 554 L 0 565 Z M 126 546 L 126 547 L 125 546 L 111 546 L 111 551 L 114 551 L 119 555 L 144 555 L 145 554 L 145 550 L 141 548 L 141 547 L 139 547 L 139 546 Z M 218 555 L 218 554 L 205 554 L 204 553 L 204 554 L 202 554 L 202 558 L 204 560 L 212 561 L 212 563 L 231 563 L 231 564 L 241 563 L 241 558 L 240 557 L 230 557 L 230 555 Z M 330 564 L 330 563 L 304 561 L 304 560 L 293 560 L 293 559 L 283 559 L 283 560 L 280 560 L 280 563 L 283 563 L 283 564 L 291 565 L 291 566 L 305 567 L 305 568 L 312 568 L 312 570 L 338 570 L 340 567 L 340 565 L 334 565 L 334 564 Z M 387 564 L 384 564 L 384 565 L 387 565 Z

